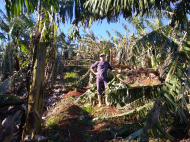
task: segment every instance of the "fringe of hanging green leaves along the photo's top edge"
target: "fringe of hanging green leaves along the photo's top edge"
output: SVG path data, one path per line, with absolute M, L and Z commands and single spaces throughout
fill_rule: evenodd
M 152 16 L 152 10 L 160 13 L 170 6 L 174 7 L 171 25 L 178 22 L 183 26 L 187 21 L 186 15 L 190 14 L 189 0 L 5 0 L 5 4 L 9 18 L 34 13 L 43 6 L 46 17 L 55 12 L 58 21 L 65 23 L 70 20 L 74 24 L 81 21 L 86 26 L 105 18 L 108 22 L 116 22 L 119 16 Z

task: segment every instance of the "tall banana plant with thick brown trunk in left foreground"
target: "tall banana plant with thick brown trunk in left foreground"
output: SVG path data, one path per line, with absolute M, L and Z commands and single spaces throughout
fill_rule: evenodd
M 70 19 L 72 22 L 73 12 L 75 21 L 82 21 L 81 13 L 85 1 L 45 1 L 45 0 L 5 0 L 8 19 L 18 17 L 24 12 L 37 14 L 37 26 L 34 29 L 33 41 L 33 78 L 30 86 L 28 99 L 28 112 L 26 121 L 26 134 L 34 136 L 41 133 L 41 116 L 43 112 L 44 76 L 47 47 L 50 43 L 51 25 L 55 22 L 63 23 Z M 75 9 L 73 7 L 75 6 Z M 84 18 L 85 19 L 85 18 Z M 86 20 L 84 20 L 85 22 Z M 31 46 L 31 43 L 29 44 Z M 39 118 L 33 119 L 36 115 Z

